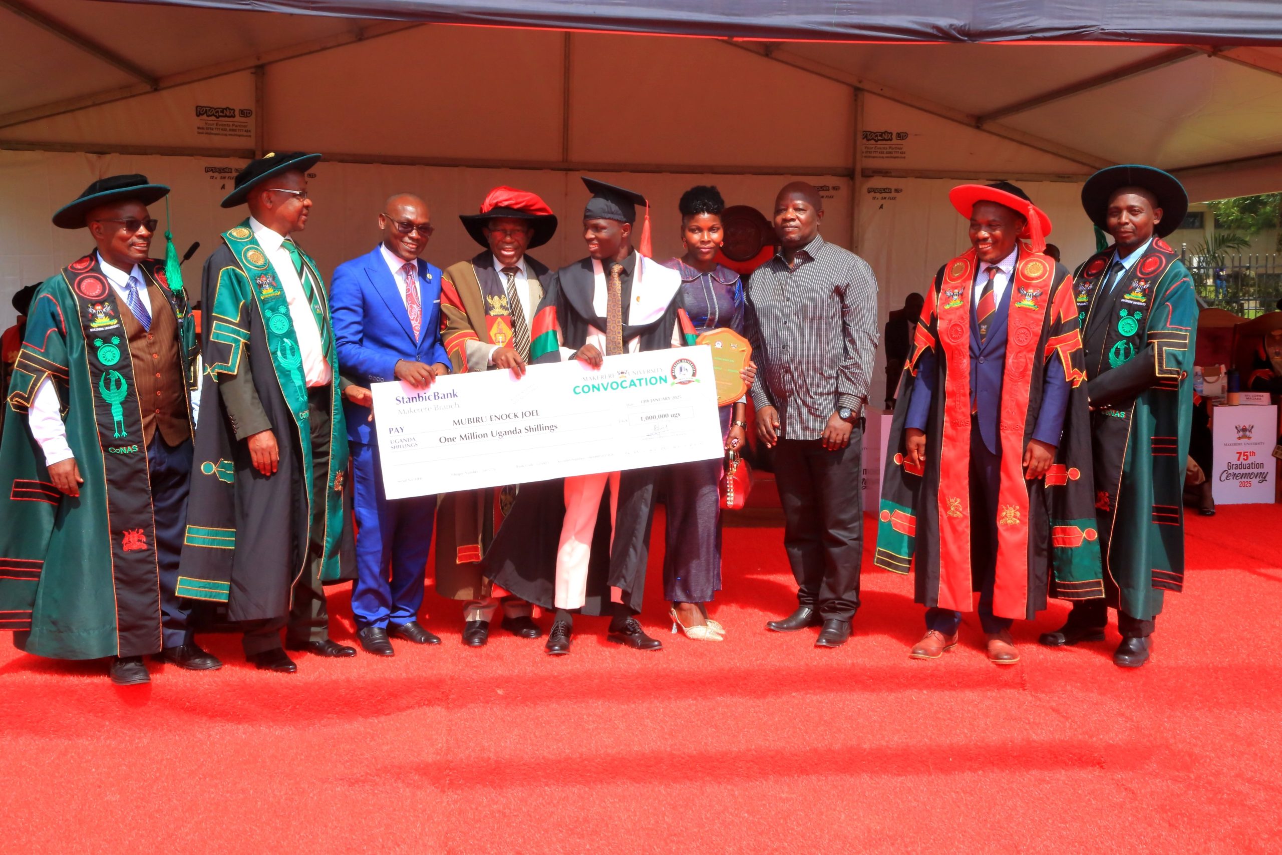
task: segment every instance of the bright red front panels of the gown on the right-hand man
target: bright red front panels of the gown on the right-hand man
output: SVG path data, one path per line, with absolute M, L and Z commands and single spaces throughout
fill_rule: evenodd
M 997 495 L 997 568 L 992 608 L 1023 614 L 1028 601 L 1028 526 L 1031 508 L 1024 482 L 1024 432 L 1033 372 L 1042 365 L 1042 331 L 1054 286 L 1055 265 L 1042 255 L 1020 253 L 1006 315 L 1003 370 L 1001 485 Z M 940 285 L 936 331 L 947 372 L 944 385 L 944 437 L 940 445 L 940 594 L 941 609 L 969 611 L 970 568 L 970 288 L 974 250 L 950 261 Z

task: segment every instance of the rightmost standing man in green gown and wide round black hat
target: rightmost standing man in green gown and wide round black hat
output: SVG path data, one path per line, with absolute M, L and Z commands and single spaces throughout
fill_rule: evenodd
M 1087 179 L 1082 206 L 1114 240 L 1073 277 L 1106 599 L 1074 602 L 1064 627 L 1041 643 L 1101 641 L 1111 606 L 1122 633 L 1113 661 L 1137 668 L 1149 660 L 1164 592 L 1185 582 L 1197 299 L 1179 255 L 1161 238 L 1179 227 L 1188 196 L 1160 169 L 1122 165 Z

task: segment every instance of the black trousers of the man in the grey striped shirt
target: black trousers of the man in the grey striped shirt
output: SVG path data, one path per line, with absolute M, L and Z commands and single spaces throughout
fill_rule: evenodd
M 819 440 L 779 440 L 774 447 L 783 549 L 797 581 L 797 604 L 824 619 L 850 620 L 859 610 L 862 440 L 855 427 L 840 451 L 824 450 Z

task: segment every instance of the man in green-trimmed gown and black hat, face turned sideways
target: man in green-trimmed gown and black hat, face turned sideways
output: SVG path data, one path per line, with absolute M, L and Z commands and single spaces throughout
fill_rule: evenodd
M 281 643 L 355 656 L 329 638 L 324 581 L 340 576 L 346 423 L 324 281 L 294 242 L 312 200 L 301 151 L 236 176 L 223 208 L 250 217 L 205 261 L 205 383 L 183 574 L 227 602 L 245 655 L 294 673 Z M 218 594 L 218 591 L 222 594 Z

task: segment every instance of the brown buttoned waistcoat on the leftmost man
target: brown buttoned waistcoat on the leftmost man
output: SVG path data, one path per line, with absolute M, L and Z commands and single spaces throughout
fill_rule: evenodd
M 191 420 L 187 418 L 182 364 L 178 360 L 178 319 L 155 282 L 147 282 L 147 297 L 151 329 L 142 328 L 129 311 L 128 303 L 117 300 L 121 323 L 129 337 L 129 355 L 133 356 L 133 382 L 142 409 L 142 440 L 151 445 L 159 427 L 165 445 L 182 445 L 191 438 Z

